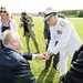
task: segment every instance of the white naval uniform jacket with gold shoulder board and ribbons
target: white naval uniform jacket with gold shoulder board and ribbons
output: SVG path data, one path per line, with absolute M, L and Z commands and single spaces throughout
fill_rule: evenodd
M 82 45 L 73 24 L 69 20 L 59 18 L 56 24 L 51 27 L 50 31 L 51 40 L 48 51 L 51 51 L 54 54 L 66 50 L 69 54 L 73 55 Z M 59 41 L 56 45 L 55 41 Z

